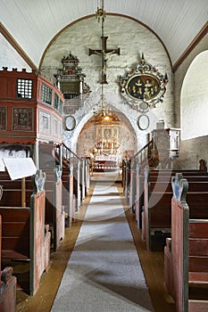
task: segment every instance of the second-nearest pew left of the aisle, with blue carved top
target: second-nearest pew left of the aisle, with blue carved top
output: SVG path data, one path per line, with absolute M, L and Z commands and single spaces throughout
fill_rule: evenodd
M 46 223 L 52 233 L 54 251 L 59 248 L 65 234 L 65 212 L 62 205 L 62 169 L 56 166 L 46 172 Z

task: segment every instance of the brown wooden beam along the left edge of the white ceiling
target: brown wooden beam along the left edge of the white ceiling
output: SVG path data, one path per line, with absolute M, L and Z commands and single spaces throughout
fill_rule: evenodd
M 4 38 L 10 43 L 10 45 L 12 45 L 12 47 L 14 48 L 14 50 L 19 53 L 22 57 L 22 59 L 27 62 L 27 64 L 29 65 L 29 67 L 32 70 L 37 70 L 37 66 L 34 64 L 34 62 L 32 62 L 29 59 L 29 56 L 27 53 L 25 53 L 22 49 L 21 46 L 16 42 L 16 40 L 12 37 L 12 35 L 8 32 L 7 29 L 4 28 L 4 25 L 0 22 L 0 33 L 4 36 Z

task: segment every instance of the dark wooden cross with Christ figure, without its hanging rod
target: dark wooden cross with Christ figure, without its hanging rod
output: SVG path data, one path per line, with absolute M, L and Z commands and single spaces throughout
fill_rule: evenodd
M 109 54 L 118 54 L 120 55 L 120 47 L 118 49 L 107 49 L 107 38 L 106 36 L 102 36 L 102 44 L 103 44 L 103 50 L 92 50 L 89 49 L 89 56 L 92 54 L 97 54 L 97 55 L 101 55 L 103 57 L 103 64 L 102 64 L 102 81 L 101 84 L 107 84 L 107 80 L 106 80 L 106 62 L 107 60 L 105 59 L 105 55 L 109 55 Z

